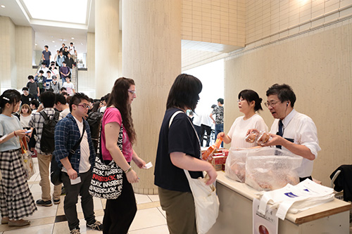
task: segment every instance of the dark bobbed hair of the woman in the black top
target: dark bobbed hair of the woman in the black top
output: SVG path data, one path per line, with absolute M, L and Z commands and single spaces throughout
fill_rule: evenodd
M 171 86 L 166 109 L 189 108 L 194 112 L 202 88 L 198 78 L 190 74 L 179 74 Z

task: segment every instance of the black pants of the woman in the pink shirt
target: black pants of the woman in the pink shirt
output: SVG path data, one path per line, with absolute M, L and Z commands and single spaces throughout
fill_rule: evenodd
M 126 234 L 137 212 L 132 185 L 122 174 L 122 193 L 114 200 L 106 200 L 103 234 Z

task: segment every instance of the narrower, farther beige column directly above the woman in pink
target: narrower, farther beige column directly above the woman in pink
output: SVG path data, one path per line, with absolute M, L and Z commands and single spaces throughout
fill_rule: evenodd
M 118 78 L 119 1 L 95 3 L 95 88 L 96 98 L 111 92 Z

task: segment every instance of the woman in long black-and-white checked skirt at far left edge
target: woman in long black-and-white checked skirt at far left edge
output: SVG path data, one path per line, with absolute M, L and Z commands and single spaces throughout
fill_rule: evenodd
M 21 162 L 20 138 L 25 137 L 20 121 L 12 115 L 20 106 L 21 95 L 15 89 L 4 91 L 0 96 L 0 212 L 1 224 L 25 226 L 23 218 L 37 210 L 25 178 Z

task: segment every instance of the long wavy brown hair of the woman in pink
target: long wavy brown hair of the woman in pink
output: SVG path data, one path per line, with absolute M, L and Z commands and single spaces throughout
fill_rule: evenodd
M 127 103 L 129 99 L 128 89 L 130 89 L 131 85 L 134 85 L 133 79 L 125 77 L 116 79 L 110 98 L 106 100 L 106 106 L 113 105 L 118 108 L 121 113 L 123 127 L 126 129 L 128 138 L 130 138 L 130 142 L 133 145 L 136 142 L 137 135 L 136 131 L 134 131 L 131 105 Z

